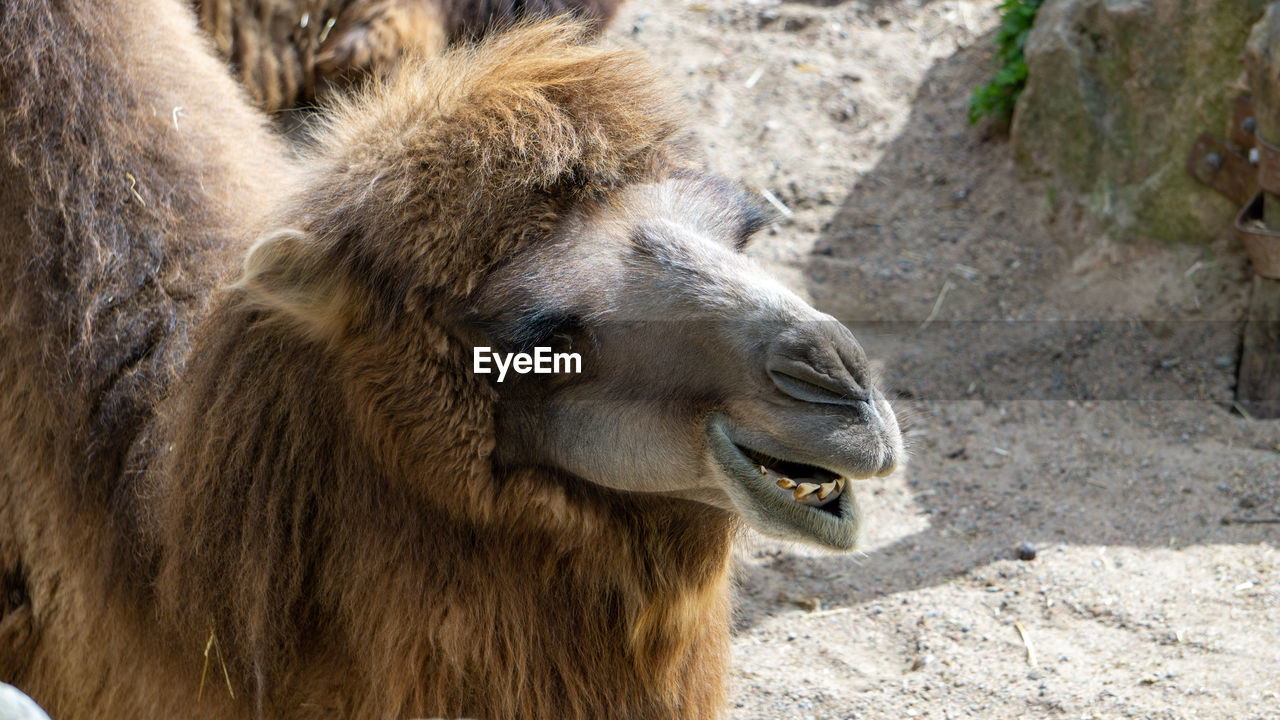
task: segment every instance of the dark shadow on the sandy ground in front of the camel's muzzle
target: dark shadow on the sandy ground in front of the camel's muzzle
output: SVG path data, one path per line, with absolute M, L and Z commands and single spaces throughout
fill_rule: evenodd
M 815 306 L 883 361 L 906 409 L 905 488 L 861 486 L 865 556 L 773 548 L 744 562 L 740 629 L 785 609 L 782 594 L 850 606 L 1011 559 L 1021 542 L 1280 538 L 1280 525 L 1222 523 L 1280 510 L 1280 423 L 1230 413 L 1239 323 L 1115 319 L 1124 307 L 1068 322 L 1071 307 L 1047 300 L 1070 275 L 1052 208 L 1019 181 L 1007 142 L 964 114 L 988 44 L 931 68 L 805 268 Z

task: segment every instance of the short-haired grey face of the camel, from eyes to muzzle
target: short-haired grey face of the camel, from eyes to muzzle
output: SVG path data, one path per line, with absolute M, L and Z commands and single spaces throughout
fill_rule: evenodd
M 852 548 L 854 480 L 902 461 L 897 420 L 854 336 L 741 254 L 763 223 L 727 183 L 680 178 L 628 188 L 515 258 L 476 316 L 498 348 L 577 352 L 582 373 L 494 383 L 499 461 Z

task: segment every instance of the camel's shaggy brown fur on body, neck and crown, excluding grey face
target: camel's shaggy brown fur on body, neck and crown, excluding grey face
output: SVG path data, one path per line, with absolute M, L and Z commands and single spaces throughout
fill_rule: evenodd
M 717 714 L 730 512 L 495 464 L 460 324 L 689 165 L 646 67 L 522 29 L 296 168 L 178 0 L 0 27 L 0 679 L 59 720 Z

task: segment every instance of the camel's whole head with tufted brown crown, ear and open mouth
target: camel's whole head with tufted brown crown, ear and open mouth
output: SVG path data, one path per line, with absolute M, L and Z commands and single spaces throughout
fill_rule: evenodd
M 492 447 L 506 469 L 852 547 L 854 484 L 902 461 L 865 355 L 742 254 L 765 214 L 698 169 L 654 70 L 580 36 L 517 29 L 339 106 L 284 214 L 296 229 L 259 242 L 243 299 L 347 354 L 394 345 L 348 361 L 385 419 L 369 437 L 399 438 L 371 441 L 398 448 L 388 464 L 475 477 L 452 451 L 471 443 L 476 462 Z M 538 347 L 581 372 L 499 382 L 494 354 Z M 481 514 L 490 496 L 454 505 Z

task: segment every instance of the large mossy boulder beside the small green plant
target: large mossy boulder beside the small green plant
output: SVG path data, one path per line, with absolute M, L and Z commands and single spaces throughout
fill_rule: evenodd
M 1207 242 L 1230 201 L 1184 169 L 1225 137 L 1240 53 L 1266 3 L 1046 0 L 1027 37 L 1011 127 L 1020 167 L 1047 176 L 1112 240 Z

